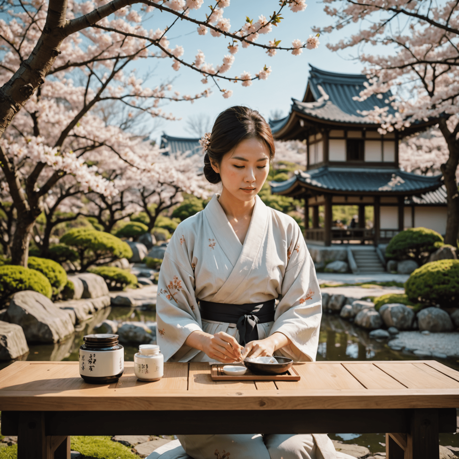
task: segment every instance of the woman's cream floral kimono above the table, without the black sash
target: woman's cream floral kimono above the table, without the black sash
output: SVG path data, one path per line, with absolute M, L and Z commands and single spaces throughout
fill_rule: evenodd
M 257 325 L 259 339 L 282 332 L 291 345 L 278 355 L 315 360 L 322 301 L 313 261 L 295 220 L 255 199 L 243 245 L 218 195 L 175 230 L 161 265 L 156 305 L 157 342 L 165 360 L 211 361 L 185 346 L 195 330 L 222 330 L 239 340 L 235 324 L 203 321 L 197 299 L 244 304 L 274 298 L 280 300 L 274 322 Z

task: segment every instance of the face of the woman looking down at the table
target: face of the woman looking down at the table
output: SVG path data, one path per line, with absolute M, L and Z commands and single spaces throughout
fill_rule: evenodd
M 242 140 L 212 168 L 220 174 L 223 189 L 240 201 L 251 201 L 260 191 L 269 173 L 269 149 L 263 140 Z

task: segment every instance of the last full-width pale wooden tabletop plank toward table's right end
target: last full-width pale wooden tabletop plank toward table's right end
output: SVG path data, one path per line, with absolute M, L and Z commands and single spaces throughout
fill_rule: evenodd
M 443 375 L 425 363 L 393 365 L 377 362 L 375 365 L 409 389 L 459 389 L 459 382 Z

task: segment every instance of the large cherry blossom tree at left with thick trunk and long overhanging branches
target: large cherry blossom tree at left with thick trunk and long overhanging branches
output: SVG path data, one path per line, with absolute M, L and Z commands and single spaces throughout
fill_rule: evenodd
M 192 102 L 211 93 L 207 87 L 196 95 L 180 96 L 167 83 L 149 87 L 130 70 L 132 62 L 170 59 L 174 70 L 189 67 L 201 75 L 204 84 L 212 80 L 228 98 L 232 91 L 221 88 L 216 77 L 250 86 L 271 73 L 271 67 L 264 66 L 239 77 L 225 76 L 239 45 L 260 48 L 269 56 L 278 50 L 297 56 L 304 48 L 319 45 L 317 36 L 304 42 L 295 39 L 291 46 L 280 46 L 276 39 L 266 44 L 257 41 L 279 25 L 285 8 L 304 11 L 305 0 L 276 0 L 274 5 L 279 7 L 269 18 L 245 17 L 234 31 L 224 17 L 229 3 L 214 0 L 209 14 L 199 16 L 203 0 L 101 0 L 97 8 L 92 0 L 0 1 L 0 179 L 16 215 L 14 233 L 5 225 L 6 233 L 11 233 L 8 246 L 13 264 L 27 265 L 34 222 L 45 196 L 63 177 L 72 176 L 84 193 L 110 199 L 118 194 L 114 181 L 94 162 L 97 152 L 119 158 L 139 175 L 151 173 L 152 164 L 134 153 L 129 134 L 104 123 L 98 113 L 100 104 L 118 101 L 133 116 L 141 111 L 153 118 L 174 119 L 163 111 L 162 102 Z M 142 22 L 151 13 L 161 21 L 166 15 L 169 25 L 147 30 Z M 228 54 L 220 65 L 214 68 L 206 62 L 201 50 L 185 59 L 183 46 L 169 47 L 166 33 L 171 29 L 175 33 L 186 22 L 194 23 L 200 35 L 210 32 L 229 38 Z

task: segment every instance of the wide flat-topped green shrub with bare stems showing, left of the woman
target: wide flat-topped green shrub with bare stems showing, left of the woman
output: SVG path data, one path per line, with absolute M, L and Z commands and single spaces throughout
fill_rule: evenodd
M 118 258 L 132 257 L 132 250 L 126 242 L 96 229 L 71 229 L 61 237 L 61 242 L 76 249 L 81 272 L 101 260 L 111 262 Z

